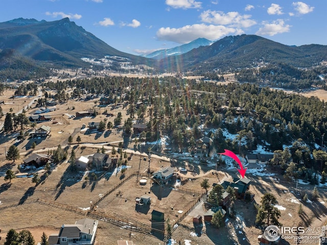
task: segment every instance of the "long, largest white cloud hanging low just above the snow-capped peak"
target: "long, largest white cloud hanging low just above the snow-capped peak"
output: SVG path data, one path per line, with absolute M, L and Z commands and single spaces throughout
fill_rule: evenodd
M 199 37 L 204 37 L 209 40 L 217 40 L 229 34 L 241 33 L 241 31 L 242 30 L 234 28 L 215 26 L 213 24 L 206 25 L 202 23 L 181 28 L 162 27 L 157 31 L 156 36 L 159 40 L 189 43 Z

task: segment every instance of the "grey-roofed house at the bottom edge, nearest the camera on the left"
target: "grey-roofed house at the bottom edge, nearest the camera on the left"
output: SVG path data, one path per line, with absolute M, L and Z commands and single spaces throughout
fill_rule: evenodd
M 92 245 L 95 242 L 98 220 L 83 218 L 74 225 L 62 224 L 59 234 L 49 236 L 49 245 Z

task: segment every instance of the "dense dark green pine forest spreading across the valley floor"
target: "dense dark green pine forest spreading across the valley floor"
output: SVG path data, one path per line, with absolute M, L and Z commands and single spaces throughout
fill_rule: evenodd
M 219 85 L 173 77 L 162 81 L 111 77 L 48 82 L 43 86 L 57 89 L 52 96 L 59 102 L 82 96 L 82 91 L 87 90 L 109 96 L 115 103 L 124 103 L 131 118 L 147 117 L 150 130 L 142 137 L 152 141 L 168 136 L 177 149 L 192 148 L 195 140 L 206 132 L 213 138 L 217 152 L 225 148 L 238 152 L 240 140 L 246 141 L 240 148 L 243 153 L 254 150 L 257 144 L 271 151 L 283 150 L 300 138 L 303 140 L 298 145 L 305 143 L 312 152 L 317 144 L 321 145 L 326 133 L 324 102 L 248 83 Z M 66 88 L 74 88 L 73 93 L 66 94 Z M 216 99 L 217 93 L 226 93 L 227 99 Z M 143 102 L 138 109 L 137 101 Z M 237 107 L 242 108 L 242 113 Z M 237 140 L 226 139 L 223 135 L 226 130 L 237 134 Z M 302 158 L 311 162 L 304 151 Z

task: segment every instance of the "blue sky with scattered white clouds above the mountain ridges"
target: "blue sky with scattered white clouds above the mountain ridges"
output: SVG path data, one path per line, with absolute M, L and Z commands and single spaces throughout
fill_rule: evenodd
M 0 6 L 0 22 L 69 17 L 130 54 L 239 34 L 287 45 L 327 44 L 326 0 L 1 0 Z

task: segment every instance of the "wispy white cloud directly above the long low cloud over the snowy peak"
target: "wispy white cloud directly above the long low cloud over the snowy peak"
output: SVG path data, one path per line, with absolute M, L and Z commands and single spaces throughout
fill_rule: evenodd
M 251 15 L 241 15 L 238 12 L 224 13 L 221 11 L 207 10 L 201 13 L 201 20 L 206 23 L 223 24 L 231 27 L 248 28 L 256 24 L 250 19 Z

